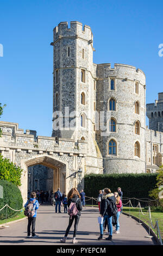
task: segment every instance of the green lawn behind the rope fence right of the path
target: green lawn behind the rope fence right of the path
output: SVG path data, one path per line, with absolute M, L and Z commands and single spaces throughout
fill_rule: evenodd
M 129 210 L 130 210 L 130 212 L 129 212 Z M 146 214 L 147 211 L 148 210 L 142 209 L 143 214 Z M 138 208 L 134 209 L 134 208 L 131 208 L 131 207 L 129 208 L 129 207 L 123 206 L 123 212 L 126 212 L 127 214 L 130 213 L 131 216 L 133 215 L 137 218 L 140 218 L 140 220 L 142 220 L 146 224 L 149 223 L 149 214 L 143 215 L 140 211 L 140 215 L 139 215 L 139 209 Z M 151 218 L 152 218 L 153 227 L 155 227 L 155 220 L 156 219 L 158 220 L 161 239 L 163 240 L 163 212 L 151 212 Z M 151 227 L 151 224 L 150 224 L 150 227 Z M 156 228 L 153 229 L 153 231 L 156 234 Z

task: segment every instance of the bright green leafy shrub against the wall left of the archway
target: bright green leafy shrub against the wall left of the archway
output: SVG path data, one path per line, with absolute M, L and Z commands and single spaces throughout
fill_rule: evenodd
M 7 180 L 16 186 L 21 186 L 21 173 L 23 169 L 16 167 L 9 159 L 0 154 L 0 180 Z

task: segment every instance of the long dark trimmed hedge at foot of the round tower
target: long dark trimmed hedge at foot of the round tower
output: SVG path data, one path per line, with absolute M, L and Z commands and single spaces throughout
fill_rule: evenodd
M 98 197 L 98 191 L 110 188 L 111 192 L 122 188 L 123 197 L 150 198 L 149 191 L 156 185 L 157 173 L 87 174 L 84 176 L 84 192 L 87 197 Z

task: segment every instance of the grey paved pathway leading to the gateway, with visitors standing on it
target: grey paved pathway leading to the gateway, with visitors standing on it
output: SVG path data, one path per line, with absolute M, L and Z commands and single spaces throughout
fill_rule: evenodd
M 63 208 L 61 208 L 63 212 Z M 148 231 L 137 224 L 133 218 L 126 215 L 120 216 L 120 234 L 114 234 L 112 241 L 98 241 L 99 224 L 98 208 L 85 207 L 82 211 L 78 225 L 76 245 L 156 245 L 154 239 L 145 237 Z M 36 239 L 26 238 L 27 219 L 9 224 L 8 228 L 0 228 L 0 245 L 72 245 L 73 226 L 70 230 L 66 244 L 60 243 L 68 224 L 68 215 L 54 213 L 54 206 L 40 205 L 36 218 Z

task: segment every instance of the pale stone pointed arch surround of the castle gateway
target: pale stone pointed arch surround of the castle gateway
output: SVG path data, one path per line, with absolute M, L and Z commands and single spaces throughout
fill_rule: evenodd
M 38 164 L 53 169 L 54 192 L 57 191 L 58 187 L 60 187 L 61 192 L 68 192 L 69 187 L 66 185 L 68 181 L 66 180 L 66 173 L 68 169 L 67 163 L 49 156 L 35 157 L 27 161 L 22 161 L 21 163 L 21 167 L 24 170 L 24 175 L 22 175 L 22 186 L 20 187 L 20 190 L 22 192 L 22 197 L 24 201 L 27 200 L 28 192 L 28 167 L 35 166 Z

